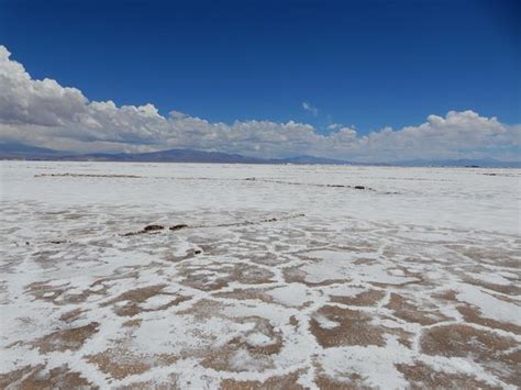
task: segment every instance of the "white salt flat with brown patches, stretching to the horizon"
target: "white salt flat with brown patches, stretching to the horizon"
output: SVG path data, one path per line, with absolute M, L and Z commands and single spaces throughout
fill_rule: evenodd
M 0 387 L 519 388 L 520 178 L 2 161 Z

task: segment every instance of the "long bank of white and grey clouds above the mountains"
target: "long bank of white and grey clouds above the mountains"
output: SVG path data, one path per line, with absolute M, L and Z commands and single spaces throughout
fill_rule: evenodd
M 510 126 L 474 111 L 429 115 L 420 125 L 386 127 L 368 135 L 340 124 L 323 135 L 310 124 L 293 121 L 226 124 L 178 111 L 164 116 L 153 104 L 118 107 L 112 101 L 89 101 L 79 89 L 63 87 L 53 79 L 35 80 L 10 56 L 0 46 L 0 142 L 81 153 L 195 148 L 257 157 L 307 154 L 357 161 L 511 160 L 519 159 L 521 148 L 521 125 Z

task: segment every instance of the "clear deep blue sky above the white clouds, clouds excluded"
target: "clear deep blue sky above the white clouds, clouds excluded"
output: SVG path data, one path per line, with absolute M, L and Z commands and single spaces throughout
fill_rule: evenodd
M 1 1 L 0 42 L 34 78 L 162 113 L 362 134 L 450 110 L 519 123 L 519 3 Z

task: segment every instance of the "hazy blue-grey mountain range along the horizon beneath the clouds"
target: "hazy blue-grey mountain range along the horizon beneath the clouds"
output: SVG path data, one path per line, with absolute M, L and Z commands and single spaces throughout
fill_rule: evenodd
M 90 153 L 74 154 L 19 143 L 0 143 L 0 159 L 57 160 L 57 161 L 135 161 L 135 163 L 220 163 L 220 164 L 324 164 L 324 165 L 379 165 L 403 167 L 495 167 L 521 168 L 521 161 L 495 159 L 414 159 L 395 163 L 365 164 L 314 156 L 288 158 L 259 158 L 221 152 L 169 149 L 148 153 Z

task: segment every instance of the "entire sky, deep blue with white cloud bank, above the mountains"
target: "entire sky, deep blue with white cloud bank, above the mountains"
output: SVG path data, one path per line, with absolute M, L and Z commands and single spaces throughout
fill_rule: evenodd
M 520 159 L 520 4 L 0 0 L 0 142 Z

